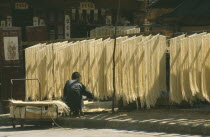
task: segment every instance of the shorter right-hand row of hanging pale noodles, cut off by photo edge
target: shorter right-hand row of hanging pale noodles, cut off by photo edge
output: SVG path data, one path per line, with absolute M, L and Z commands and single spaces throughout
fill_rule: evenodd
M 179 36 L 170 41 L 170 100 L 209 101 L 209 34 Z M 180 43 L 181 41 L 181 43 Z M 181 53 L 181 54 L 180 54 Z

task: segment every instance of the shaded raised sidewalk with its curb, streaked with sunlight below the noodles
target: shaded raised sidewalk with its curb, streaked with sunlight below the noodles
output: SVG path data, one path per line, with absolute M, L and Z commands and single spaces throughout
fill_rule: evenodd
M 67 128 L 121 129 L 145 133 L 147 131 L 210 136 L 209 109 L 151 109 L 116 114 L 90 112 L 81 118 L 61 117 L 57 123 Z M 0 115 L 0 125 L 8 124 L 11 125 L 8 115 Z

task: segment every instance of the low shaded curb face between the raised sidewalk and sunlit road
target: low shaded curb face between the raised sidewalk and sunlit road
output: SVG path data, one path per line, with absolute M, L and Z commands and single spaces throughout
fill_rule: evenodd
M 143 121 L 109 121 L 85 118 L 59 118 L 58 124 L 70 128 L 96 128 L 96 129 L 120 129 L 138 130 L 149 132 L 182 133 L 193 135 L 210 135 L 210 126 L 189 126 L 174 123 L 157 123 Z

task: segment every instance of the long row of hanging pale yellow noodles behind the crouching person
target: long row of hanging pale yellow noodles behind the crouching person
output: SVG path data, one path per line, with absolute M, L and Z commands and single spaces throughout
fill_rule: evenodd
M 117 38 L 116 99 L 154 106 L 161 91 L 166 91 L 166 38 L 134 36 Z M 84 40 L 74 43 L 39 44 L 27 48 L 26 77 L 41 81 L 42 99 L 61 98 L 65 82 L 75 71 L 82 83 L 97 98 L 113 94 L 113 39 Z M 38 83 L 26 83 L 27 98 L 39 100 Z

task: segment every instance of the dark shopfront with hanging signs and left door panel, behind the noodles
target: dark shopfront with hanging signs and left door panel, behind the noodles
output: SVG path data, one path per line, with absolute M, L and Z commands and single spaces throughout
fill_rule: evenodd
M 120 1 L 119 25 L 141 25 L 145 1 Z M 10 98 L 25 99 L 25 82 L 10 81 L 25 78 L 22 42 L 88 37 L 96 27 L 115 25 L 117 8 L 117 0 L 1 0 L 0 112 L 1 106 L 8 112 Z

